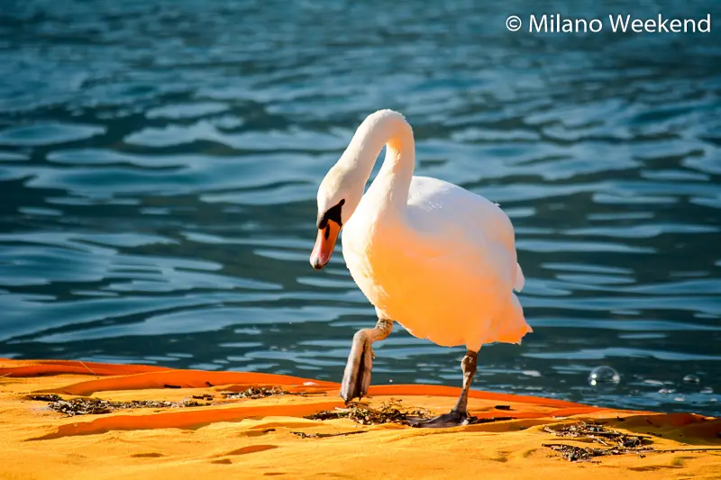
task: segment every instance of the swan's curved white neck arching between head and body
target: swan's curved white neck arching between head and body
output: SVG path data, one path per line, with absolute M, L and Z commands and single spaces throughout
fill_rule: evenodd
M 411 126 L 403 115 L 392 110 L 369 115 L 358 127 L 343 156 L 348 155 L 351 168 L 358 171 L 365 186 L 384 146 L 386 158 L 373 182 L 373 195 L 378 195 L 378 200 L 386 206 L 405 209 L 415 168 L 415 144 Z

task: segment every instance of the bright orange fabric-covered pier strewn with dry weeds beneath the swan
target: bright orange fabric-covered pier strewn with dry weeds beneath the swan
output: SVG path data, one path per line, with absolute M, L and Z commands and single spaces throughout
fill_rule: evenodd
M 227 396 L 251 387 L 285 394 Z M 306 418 L 342 409 L 338 388 L 295 376 L 0 359 L 0 479 L 721 479 L 721 419 L 479 391 L 471 391 L 469 410 L 481 420 L 453 429 Z M 364 403 L 379 409 L 399 401 L 437 414 L 452 408 L 459 391 L 376 385 Z M 55 395 L 203 401 L 67 416 L 48 406 Z M 582 425 L 602 430 L 578 434 Z M 610 451 L 617 435 L 643 447 L 586 459 L 572 454 Z

